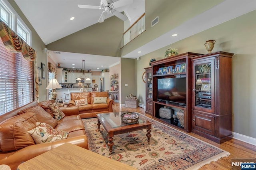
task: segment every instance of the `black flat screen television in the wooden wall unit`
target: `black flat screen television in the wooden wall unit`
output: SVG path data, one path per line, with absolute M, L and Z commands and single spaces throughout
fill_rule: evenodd
M 186 77 L 157 79 L 157 99 L 186 104 Z

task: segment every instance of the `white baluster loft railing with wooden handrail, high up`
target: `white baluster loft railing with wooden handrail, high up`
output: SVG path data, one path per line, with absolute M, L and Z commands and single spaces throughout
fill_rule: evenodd
M 145 31 L 145 13 L 140 16 L 126 32 L 124 32 L 123 40 L 122 40 L 122 47 L 136 38 L 138 35 L 142 34 Z

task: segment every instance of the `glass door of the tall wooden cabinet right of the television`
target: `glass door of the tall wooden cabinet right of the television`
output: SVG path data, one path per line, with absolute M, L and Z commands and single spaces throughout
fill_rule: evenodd
M 212 108 L 212 63 L 194 65 L 195 73 L 195 106 Z M 213 87 L 214 88 L 214 87 Z

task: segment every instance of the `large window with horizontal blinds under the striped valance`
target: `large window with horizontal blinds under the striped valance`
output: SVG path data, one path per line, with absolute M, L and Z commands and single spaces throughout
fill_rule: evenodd
M 34 63 L 0 40 L 0 115 L 34 100 Z

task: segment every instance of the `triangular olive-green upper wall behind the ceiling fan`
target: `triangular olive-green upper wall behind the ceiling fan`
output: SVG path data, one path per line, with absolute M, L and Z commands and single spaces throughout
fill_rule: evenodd
M 120 57 L 123 33 L 124 22 L 113 16 L 46 46 L 53 51 Z

